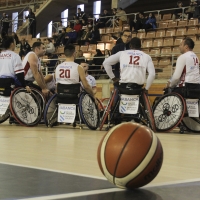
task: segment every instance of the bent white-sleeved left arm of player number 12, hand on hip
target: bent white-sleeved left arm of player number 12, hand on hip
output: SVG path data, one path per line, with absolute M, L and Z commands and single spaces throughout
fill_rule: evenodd
M 121 52 L 118 52 L 118 53 L 106 58 L 105 61 L 103 62 L 103 66 L 105 68 L 106 73 L 108 74 L 110 79 L 112 79 L 113 81 L 116 78 L 115 78 L 115 75 L 114 75 L 114 73 L 112 71 L 112 65 L 115 65 L 116 63 L 119 62 L 120 55 L 121 55 Z

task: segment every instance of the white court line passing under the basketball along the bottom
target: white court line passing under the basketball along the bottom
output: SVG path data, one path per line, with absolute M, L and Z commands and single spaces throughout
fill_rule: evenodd
M 191 179 L 191 180 L 193 180 L 192 182 L 200 181 L 200 179 Z M 184 181 L 184 183 L 191 182 L 191 180 L 190 181 L 186 180 L 186 181 Z M 183 182 L 178 182 L 178 181 L 174 182 L 174 184 L 177 184 L 177 183 L 183 183 Z M 167 183 L 160 184 L 158 186 L 161 186 L 161 185 L 164 186 L 166 184 Z M 171 185 L 173 185 L 173 184 L 171 184 Z M 145 189 L 145 188 L 149 188 L 149 187 L 154 187 L 154 186 L 151 185 L 151 186 L 142 187 L 142 188 Z M 103 194 L 103 193 L 111 193 L 111 192 L 122 192 L 124 190 L 125 189 L 120 189 L 120 188 L 110 188 L 110 189 L 92 190 L 92 191 L 76 192 L 76 193 L 68 193 L 68 194 L 58 194 L 58 195 L 51 195 L 51 196 L 29 197 L 29 198 L 22 198 L 22 199 L 19 199 L 19 200 L 53 200 L 53 199 L 64 199 L 64 198 L 81 197 L 81 196 L 88 196 L 88 195 L 94 195 L 94 194 Z

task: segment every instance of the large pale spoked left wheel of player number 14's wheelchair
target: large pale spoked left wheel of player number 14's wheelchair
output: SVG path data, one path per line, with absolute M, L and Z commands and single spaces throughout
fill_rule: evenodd
M 177 93 L 166 94 L 153 107 L 153 115 L 157 131 L 170 131 L 183 119 L 185 100 Z

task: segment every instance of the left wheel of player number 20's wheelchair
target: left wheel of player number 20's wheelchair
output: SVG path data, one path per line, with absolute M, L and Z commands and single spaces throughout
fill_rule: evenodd
M 57 123 L 58 118 L 58 106 L 56 105 L 57 94 L 54 94 L 47 102 L 44 111 L 44 122 L 47 127 L 53 127 Z

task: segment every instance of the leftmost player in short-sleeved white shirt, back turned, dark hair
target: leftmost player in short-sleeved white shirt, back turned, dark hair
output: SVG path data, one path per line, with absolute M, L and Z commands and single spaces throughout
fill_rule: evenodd
M 2 45 L 5 50 L 0 53 L 0 78 L 13 78 L 16 86 L 25 87 L 24 68 L 21 58 L 14 52 L 14 38 L 6 36 Z

